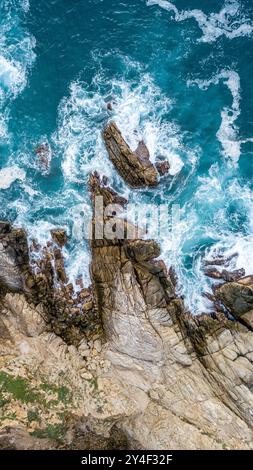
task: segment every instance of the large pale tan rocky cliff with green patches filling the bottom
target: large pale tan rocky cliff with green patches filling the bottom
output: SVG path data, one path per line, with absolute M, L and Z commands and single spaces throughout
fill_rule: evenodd
M 98 175 L 90 189 L 127 203 Z M 225 313 L 194 317 L 156 242 L 105 237 L 91 252 L 102 328 L 75 345 L 43 302 L 2 295 L 0 445 L 253 449 L 252 278 L 216 289 Z

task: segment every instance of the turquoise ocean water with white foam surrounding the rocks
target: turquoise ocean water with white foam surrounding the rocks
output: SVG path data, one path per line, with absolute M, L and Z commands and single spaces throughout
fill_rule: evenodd
M 236 254 L 229 269 L 253 273 L 252 76 L 251 0 L 0 0 L 0 218 L 41 243 L 66 228 L 69 278 L 88 284 L 97 170 L 130 202 L 179 208 L 161 256 L 192 313 L 210 311 L 205 259 Z M 109 119 L 170 162 L 156 189 L 117 175 Z

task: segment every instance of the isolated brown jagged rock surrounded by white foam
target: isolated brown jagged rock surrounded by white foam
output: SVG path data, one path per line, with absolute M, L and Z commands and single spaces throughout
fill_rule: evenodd
M 158 173 L 149 159 L 144 142 L 140 142 L 133 152 L 114 122 L 106 126 L 103 137 L 110 160 L 129 186 L 143 188 L 158 184 Z

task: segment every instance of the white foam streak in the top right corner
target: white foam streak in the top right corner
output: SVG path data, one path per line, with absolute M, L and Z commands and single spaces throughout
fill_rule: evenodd
M 159 5 L 161 8 L 172 12 L 175 21 L 185 21 L 194 18 L 201 29 L 202 42 L 214 42 L 220 36 L 225 35 L 229 39 L 252 34 L 252 22 L 241 12 L 241 4 L 237 0 L 226 0 L 218 13 L 205 14 L 202 10 L 179 11 L 174 3 L 167 0 L 147 0 L 147 5 Z

